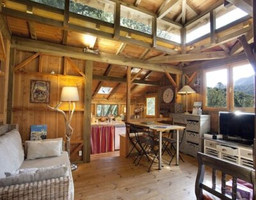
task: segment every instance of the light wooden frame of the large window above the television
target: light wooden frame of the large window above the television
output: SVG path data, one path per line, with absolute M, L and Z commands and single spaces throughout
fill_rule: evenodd
M 247 61 L 237 62 L 236 64 L 228 64 L 217 68 L 205 69 L 203 71 L 203 109 L 207 111 L 243 111 L 253 113 L 255 108 L 236 108 L 234 107 L 234 81 L 233 81 L 233 69 L 239 66 L 249 64 Z M 206 106 L 206 73 L 211 71 L 218 71 L 220 69 L 227 69 L 227 107 L 208 107 Z M 254 86 L 255 87 L 255 86 Z M 254 89 L 255 90 L 255 89 Z M 255 94 L 254 94 L 255 96 Z M 254 97 L 255 101 L 255 97 Z

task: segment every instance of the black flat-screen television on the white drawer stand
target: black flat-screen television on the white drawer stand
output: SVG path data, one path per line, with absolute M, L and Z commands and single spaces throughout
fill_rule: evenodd
M 247 145 L 252 145 L 254 130 L 254 113 L 219 113 L 219 133 L 223 135 L 223 139 L 230 139 Z

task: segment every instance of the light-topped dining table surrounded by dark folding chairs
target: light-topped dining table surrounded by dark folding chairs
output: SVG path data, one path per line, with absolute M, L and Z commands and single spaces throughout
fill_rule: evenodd
M 158 133 L 159 136 L 159 163 L 158 163 L 158 169 L 162 169 L 162 133 L 164 131 L 176 131 L 176 165 L 179 165 L 179 131 L 183 131 L 186 129 L 184 126 L 180 125 L 169 125 L 169 124 L 163 124 L 160 122 L 129 122 L 130 124 L 144 127 L 145 129 L 151 129 L 154 132 Z

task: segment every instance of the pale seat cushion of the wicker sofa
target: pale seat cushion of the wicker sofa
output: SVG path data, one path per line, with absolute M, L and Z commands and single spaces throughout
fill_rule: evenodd
M 71 197 L 74 198 L 74 183 L 72 178 L 72 172 L 70 168 L 70 161 L 68 159 L 68 152 L 63 152 L 58 157 L 47 157 L 42 159 L 35 159 L 35 160 L 25 160 L 20 166 L 20 169 L 26 168 L 47 168 L 50 166 L 56 166 L 60 164 L 66 164 L 68 167 L 68 176 L 70 178 L 70 190 L 71 190 Z

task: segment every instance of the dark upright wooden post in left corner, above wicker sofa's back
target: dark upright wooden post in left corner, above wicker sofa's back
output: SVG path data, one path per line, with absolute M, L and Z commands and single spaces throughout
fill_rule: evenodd
M 10 49 L 10 66 L 9 66 L 9 78 L 8 78 L 8 101 L 7 101 L 7 116 L 6 123 L 12 123 L 12 93 L 13 93 L 13 69 L 15 66 L 15 49 Z

